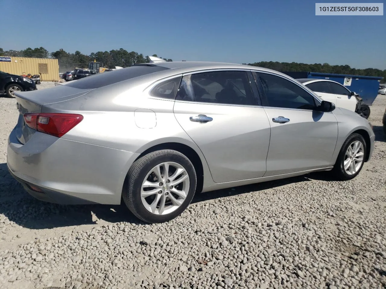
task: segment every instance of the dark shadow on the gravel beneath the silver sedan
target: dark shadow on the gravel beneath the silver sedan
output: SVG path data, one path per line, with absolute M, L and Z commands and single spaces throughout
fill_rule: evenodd
M 290 183 L 311 181 L 313 174 L 267 181 L 252 185 L 196 194 L 192 203 L 258 192 Z M 58 205 L 31 197 L 8 172 L 7 164 L 0 164 L 0 214 L 28 229 L 53 229 L 98 223 L 130 222 L 146 224 L 136 218 L 125 204 L 120 205 Z M 7 221 L 6 221 L 7 222 Z

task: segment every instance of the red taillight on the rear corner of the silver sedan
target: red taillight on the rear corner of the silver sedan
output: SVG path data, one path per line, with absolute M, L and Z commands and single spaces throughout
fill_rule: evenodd
M 60 138 L 68 133 L 83 119 L 81 114 L 69 113 L 26 113 L 24 120 L 27 126 L 41 133 Z

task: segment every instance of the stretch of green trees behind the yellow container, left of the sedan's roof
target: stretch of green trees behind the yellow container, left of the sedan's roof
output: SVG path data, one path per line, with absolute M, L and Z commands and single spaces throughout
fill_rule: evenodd
M 88 67 L 88 62 L 94 60 L 100 62 L 100 67 L 107 68 L 114 68 L 115 66 L 127 67 L 132 64 L 149 62 L 148 56 L 144 56 L 142 53 L 139 54 L 135 51 L 128 52 L 123 48 L 104 52 L 92 52 L 90 55 L 85 55 L 79 50 L 76 50 L 74 53 L 69 53 L 63 49 L 49 53 L 44 47 L 35 49 L 29 47 L 24 50 L 3 50 L 0 48 L 0 56 L 58 59 L 60 72 L 73 70 L 75 67 Z M 152 56 L 159 57 L 157 54 L 153 54 Z M 166 61 L 173 61 L 170 58 L 163 59 Z

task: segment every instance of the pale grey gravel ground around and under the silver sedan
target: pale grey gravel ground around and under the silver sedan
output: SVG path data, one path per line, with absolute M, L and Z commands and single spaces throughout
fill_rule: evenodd
M 200 194 L 149 225 L 124 205 L 29 197 L 7 171 L 17 111 L 0 97 L 0 287 L 385 288 L 385 108 L 379 95 L 374 155 L 354 180 L 314 173 Z

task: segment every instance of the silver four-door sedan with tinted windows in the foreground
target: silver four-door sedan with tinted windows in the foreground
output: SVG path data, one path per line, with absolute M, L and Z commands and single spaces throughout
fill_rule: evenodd
M 136 64 L 16 95 L 7 166 L 25 190 L 65 204 L 123 197 L 146 222 L 177 217 L 195 193 L 315 171 L 350 180 L 374 150 L 369 121 L 261 67 Z

